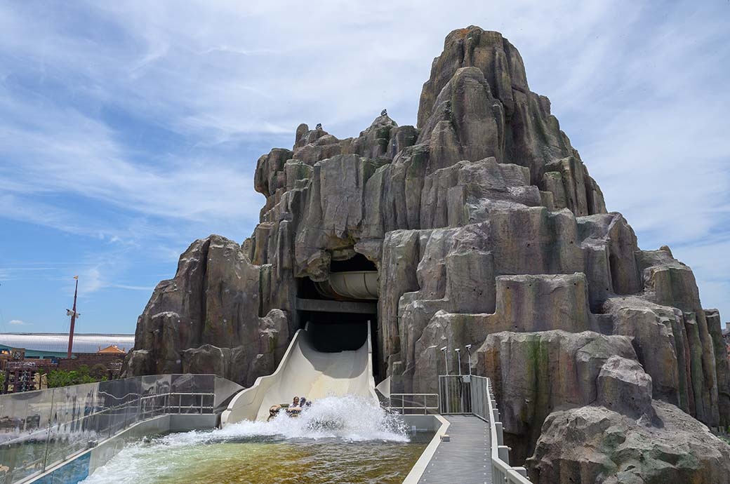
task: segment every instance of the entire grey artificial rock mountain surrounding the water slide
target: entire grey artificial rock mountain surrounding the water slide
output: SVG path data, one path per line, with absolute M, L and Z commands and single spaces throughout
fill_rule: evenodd
M 254 183 L 253 235 L 183 253 L 139 317 L 128 374 L 250 385 L 303 323 L 301 281 L 364 257 L 379 271 L 379 378 L 433 392 L 438 348 L 478 347 L 472 370 L 493 379 L 534 482 L 730 482 L 730 447 L 706 427 L 730 424 L 717 312 L 668 247 L 640 250 L 607 212 L 501 34 L 447 36 L 418 127 L 381 115 L 337 139 L 302 124 Z

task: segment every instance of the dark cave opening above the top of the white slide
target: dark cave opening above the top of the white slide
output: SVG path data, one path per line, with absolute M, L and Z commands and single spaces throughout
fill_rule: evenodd
M 375 264 L 361 254 L 345 261 L 332 261 L 331 274 L 347 277 L 342 273 L 377 272 Z M 374 280 L 374 275 L 369 276 Z M 331 276 L 331 279 L 333 277 Z M 334 353 L 338 351 L 357 350 L 367 342 L 368 323 L 372 337 L 373 372 L 378 380 L 377 353 L 377 299 L 372 294 L 366 298 L 358 291 L 337 292 L 329 287 L 328 282 L 317 283 L 309 277 L 301 277 L 297 281 L 296 310 L 299 327 L 304 329 L 309 323 L 312 345 L 318 351 Z M 369 286 L 372 291 L 372 285 Z

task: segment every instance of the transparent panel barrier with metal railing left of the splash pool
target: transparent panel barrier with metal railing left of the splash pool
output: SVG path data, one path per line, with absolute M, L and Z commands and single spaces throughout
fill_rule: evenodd
M 212 414 L 242 387 L 165 374 L 0 396 L 0 483 L 23 483 L 142 420 Z

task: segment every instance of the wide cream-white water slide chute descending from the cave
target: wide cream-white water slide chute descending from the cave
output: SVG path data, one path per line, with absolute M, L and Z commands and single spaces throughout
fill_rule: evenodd
M 354 394 L 377 404 L 372 373 L 372 341 L 358 350 L 325 353 L 312 345 L 310 325 L 294 334 L 276 371 L 258 377 L 250 388 L 237 394 L 220 415 L 220 426 L 242 420 L 266 420 L 269 407 L 291 402 L 293 396 L 321 399 Z

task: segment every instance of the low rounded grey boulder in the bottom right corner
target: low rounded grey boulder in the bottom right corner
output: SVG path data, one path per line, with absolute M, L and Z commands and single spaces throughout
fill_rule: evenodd
M 556 411 L 545 420 L 534 456 L 534 483 L 727 484 L 730 446 L 694 418 L 655 400 L 661 426 L 606 407 Z

